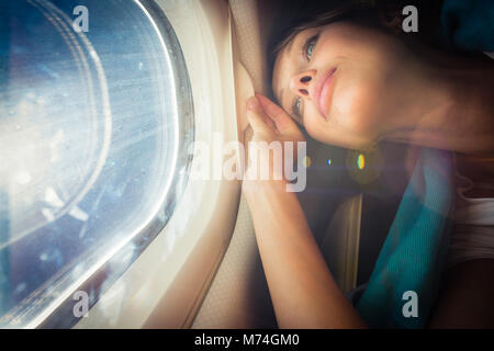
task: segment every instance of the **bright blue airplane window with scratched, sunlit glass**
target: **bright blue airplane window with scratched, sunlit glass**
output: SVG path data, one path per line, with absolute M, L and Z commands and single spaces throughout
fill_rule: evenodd
M 192 100 L 153 4 L 0 0 L 0 326 L 53 313 L 104 268 L 94 302 L 171 216 Z

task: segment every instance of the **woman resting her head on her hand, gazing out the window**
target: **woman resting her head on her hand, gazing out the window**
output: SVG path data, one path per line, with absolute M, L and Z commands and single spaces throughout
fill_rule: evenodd
M 272 76 L 279 105 L 260 94 L 247 102 L 254 140 L 300 141 L 302 126 L 316 140 L 346 148 L 388 140 L 451 150 L 461 156 L 459 169 L 465 156 L 492 159 L 494 64 L 409 43 L 393 25 L 403 20 L 400 12 L 352 9 L 324 14 L 281 42 Z M 481 176 L 471 179 L 492 181 L 490 163 L 475 165 Z M 296 195 L 284 185 L 285 180 L 244 185 L 279 326 L 366 327 L 327 269 Z M 492 200 L 494 193 L 481 188 L 474 196 Z M 492 251 L 450 269 L 429 326 L 494 327 L 493 273 Z

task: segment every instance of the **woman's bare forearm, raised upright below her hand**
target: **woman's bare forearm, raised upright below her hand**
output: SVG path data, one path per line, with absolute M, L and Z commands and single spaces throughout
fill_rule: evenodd
M 281 328 L 362 328 L 336 285 L 294 193 L 284 181 L 245 184 L 256 238 Z

